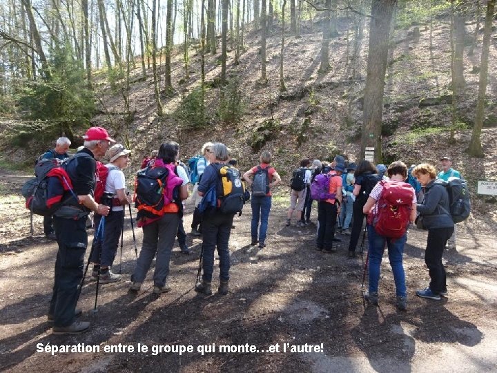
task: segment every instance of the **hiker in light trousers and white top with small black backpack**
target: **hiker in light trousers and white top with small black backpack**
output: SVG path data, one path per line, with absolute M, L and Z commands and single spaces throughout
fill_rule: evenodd
M 311 185 L 312 172 L 309 169 L 311 160 L 306 159 L 300 162 L 300 167 L 295 169 L 292 174 L 290 182 L 290 207 L 286 214 L 286 227 L 291 224 L 291 217 L 293 211 L 297 214 L 297 227 L 304 227 L 304 223 L 300 220 L 302 211 L 304 210 L 304 203 L 306 201 L 306 193 L 308 187 Z

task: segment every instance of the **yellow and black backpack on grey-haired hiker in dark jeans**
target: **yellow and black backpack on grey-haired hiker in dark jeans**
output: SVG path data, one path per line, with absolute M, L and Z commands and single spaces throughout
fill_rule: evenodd
M 244 199 L 244 185 L 240 178 L 240 171 L 228 164 L 219 169 L 222 194 L 217 196 L 217 206 L 222 213 L 238 213 L 242 215 Z

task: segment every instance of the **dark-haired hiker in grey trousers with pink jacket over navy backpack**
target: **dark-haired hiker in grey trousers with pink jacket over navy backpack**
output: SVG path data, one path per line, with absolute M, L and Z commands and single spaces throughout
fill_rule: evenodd
M 135 201 L 138 209 L 138 227 L 143 229 L 142 249 L 140 250 L 135 270 L 131 276 L 130 291 L 139 291 L 145 280 L 148 269 L 155 257 L 155 270 L 153 275 L 153 293 L 162 294 L 170 291 L 171 287 L 167 281 L 169 275 L 169 262 L 171 251 L 175 243 L 178 224 L 183 216 L 182 201 L 188 198 L 187 173 L 182 166 L 176 166 L 179 154 L 179 144 L 177 142 L 165 142 L 159 147 L 157 159 L 151 170 L 164 171 L 168 174 L 164 184 L 159 183 L 162 191 L 160 211 L 150 209 L 142 203 L 139 181 L 137 181 L 137 191 Z M 141 175 L 141 172 L 139 175 Z M 146 175 L 149 175 L 150 170 Z M 156 192 L 154 192 L 156 194 Z M 171 196 L 171 198 L 166 198 Z

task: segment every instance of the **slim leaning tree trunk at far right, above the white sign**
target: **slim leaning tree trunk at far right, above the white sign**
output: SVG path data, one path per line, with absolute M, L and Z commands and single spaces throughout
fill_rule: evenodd
M 481 146 L 481 131 L 483 120 L 485 119 L 485 93 L 487 91 L 488 78 L 488 59 L 491 38 L 491 23 L 494 17 L 494 8 L 496 0 L 488 0 L 487 14 L 485 15 L 485 34 L 483 35 L 481 66 L 480 66 L 480 85 L 478 86 L 478 101 L 476 102 L 476 119 L 469 141 L 469 155 L 483 158 L 483 148 Z

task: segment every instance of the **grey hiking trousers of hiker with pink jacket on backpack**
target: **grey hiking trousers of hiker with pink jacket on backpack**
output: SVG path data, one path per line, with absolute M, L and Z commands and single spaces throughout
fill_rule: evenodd
M 173 251 L 179 220 L 177 213 L 165 213 L 161 219 L 143 227 L 142 250 L 138 256 L 133 276 L 131 276 L 133 283 L 144 282 L 152 260 L 157 254 L 153 277 L 154 285 L 159 287 L 166 285 L 170 254 Z

